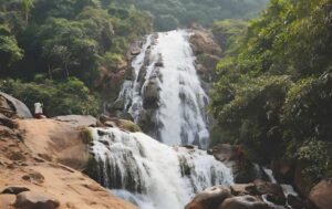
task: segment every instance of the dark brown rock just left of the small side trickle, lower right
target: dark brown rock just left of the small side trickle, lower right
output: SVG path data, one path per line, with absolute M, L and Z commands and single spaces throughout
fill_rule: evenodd
M 286 197 L 280 185 L 263 181 L 255 180 L 253 185 L 258 195 L 268 195 L 268 200 L 276 205 L 284 205 Z

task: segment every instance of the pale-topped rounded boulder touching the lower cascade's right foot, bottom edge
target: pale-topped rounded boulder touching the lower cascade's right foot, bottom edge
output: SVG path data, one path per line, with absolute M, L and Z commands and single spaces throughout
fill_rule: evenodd
M 230 197 L 228 187 L 215 186 L 198 194 L 185 209 L 217 209 L 225 199 Z

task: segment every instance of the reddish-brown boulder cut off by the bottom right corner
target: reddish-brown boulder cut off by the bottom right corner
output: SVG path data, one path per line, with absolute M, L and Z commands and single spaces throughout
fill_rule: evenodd
M 310 194 L 309 200 L 319 209 L 332 208 L 332 179 L 322 180 L 314 186 Z

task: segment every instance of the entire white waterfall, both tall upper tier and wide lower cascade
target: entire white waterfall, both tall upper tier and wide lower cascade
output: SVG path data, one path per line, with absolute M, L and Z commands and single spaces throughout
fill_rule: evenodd
M 134 79 L 124 82 L 115 102 L 149 136 L 92 128 L 91 176 L 142 209 L 181 209 L 197 192 L 234 181 L 230 169 L 214 156 L 177 146 L 206 148 L 209 138 L 208 96 L 196 73 L 189 38 L 183 30 L 148 35 L 132 62 Z

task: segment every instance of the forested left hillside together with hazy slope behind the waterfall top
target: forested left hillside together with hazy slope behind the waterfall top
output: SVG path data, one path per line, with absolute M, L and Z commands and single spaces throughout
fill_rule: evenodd
M 131 43 L 152 31 L 250 17 L 261 1 L 1 0 L 0 87 L 30 108 L 43 101 L 50 116 L 95 115 L 103 93 L 117 94 Z

